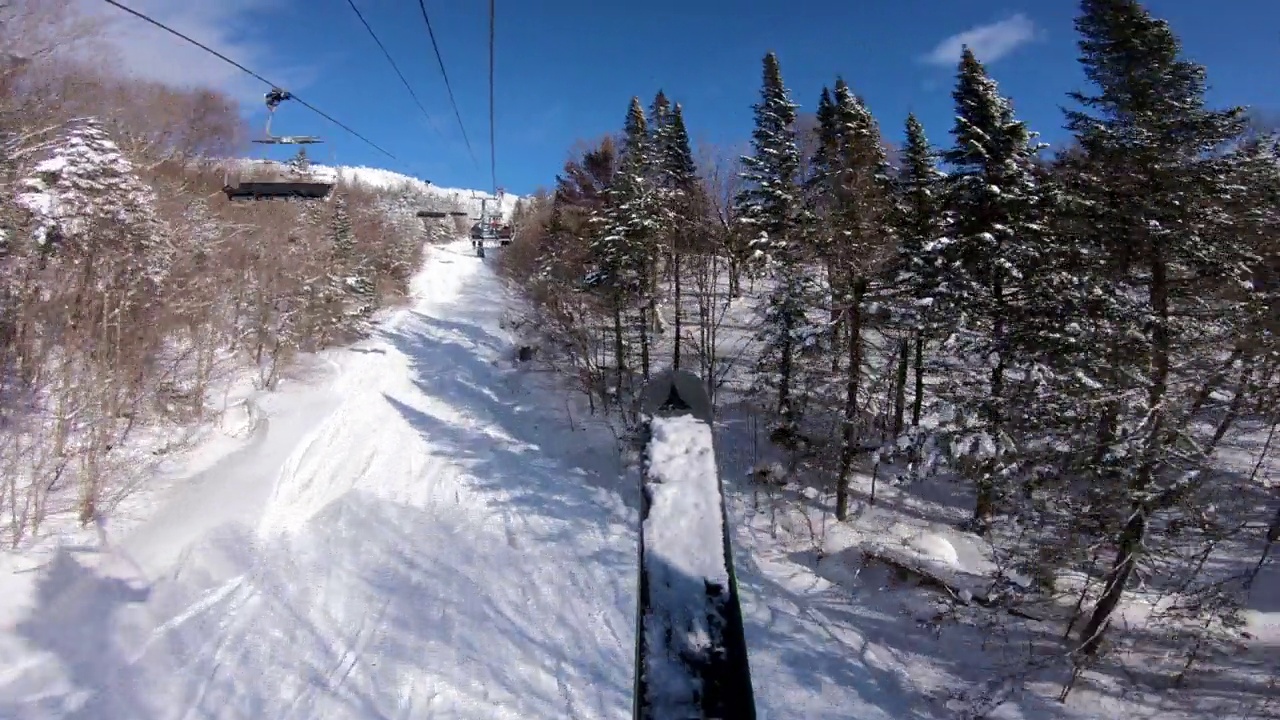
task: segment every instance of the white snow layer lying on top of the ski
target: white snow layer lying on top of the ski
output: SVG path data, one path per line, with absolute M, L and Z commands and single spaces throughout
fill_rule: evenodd
M 719 482 L 709 424 L 691 415 L 653 418 L 644 521 L 650 611 L 644 618 L 646 698 L 658 717 L 698 715 L 690 659 L 713 647 L 717 609 L 708 588 L 728 594 Z

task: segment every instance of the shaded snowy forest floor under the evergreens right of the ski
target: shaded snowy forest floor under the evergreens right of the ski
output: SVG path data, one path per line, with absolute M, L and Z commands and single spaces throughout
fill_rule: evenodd
M 760 283 L 763 286 L 763 283 Z M 1160 610 L 1185 601 L 1167 588 L 1139 585 L 1126 593 L 1112 633 L 1117 647 L 1105 662 L 1075 683 L 1066 702 L 1057 700 L 1070 678 L 1070 643 L 1062 642 L 1073 610 L 1071 591 L 1083 587 L 1080 573 L 1062 573 L 1057 583 L 1066 607 L 1028 619 L 980 600 L 1000 574 L 1027 583 L 1009 569 L 1009 551 L 960 529 L 972 514 L 972 487 L 942 475 L 899 484 L 901 468 L 860 459 L 851 483 L 851 516 L 833 518 L 829 477 L 801 470 L 786 477 L 786 454 L 768 439 L 769 418 L 741 402 L 750 384 L 758 300 L 764 287 L 750 286 L 744 297 L 727 300 L 727 282 L 714 286 L 713 305 L 723 307 L 717 338 L 717 452 L 721 477 L 733 487 L 730 514 L 735 524 L 735 569 L 746 618 L 753 673 L 768 676 L 759 648 L 769 633 L 804 633 L 809 628 L 845 643 L 845 665 L 815 664 L 840 674 L 847 687 L 886 689 L 879 708 L 904 717 L 1032 719 L 1198 719 L 1280 717 L 1280 565 L 1261 569 L 1248 597 L 1242 598 L 1243 628 L 1225 652 L 1204 652 L 1185 682 L 1172 678 L 1187 664 L 1185 628 Z M 685 318 L 696 318 L 699 299 L 686 288 Z M 663 325 L 675 327 L 671 305 L 660 309 Z M 699 336 L 686 322 L 686 363 L 698 356 Z M 650 347 L 653 357 L 671 356 L 671 334 Z M 692 357 L 691 357 L 692 356 Z M 892 357 L 873 354 L 870 363 L 891 378 Z M 883 387 L 869 389 L 884 396 Z M 1245 427 L 1224 445 L 1224 470 L 1245 475 L 1263 457 L 1267 428 Z M 762 473 L 762 470 L 765 470 Z M 1280 454 L 1274 450 L 1258 473 L 1260 497 L 1274 512 L 1280 489 Z M 874 502 L 872 502 L 874 498 Z M 1263 523 L 1268 516 L 1263 518 Z M 1265 527 L 1265 525 L 1263 525 Z M 1262 533 L 1257 528 L 1253 537 Z M 1001 541 L 1006 538 L 1000 538 Z M 1215 573 L 1252 569 L 1260 544 L 1220 548 Z M 927 574 L 928 578 L 922 578 Z M 941 579 L 948 589 L 933 587 Z M 1097 583 L 1093 583 L 1093 597 Z M 1092 601 L 1091 601 L 1092 602 Z M 759 605 L 763 603 L 763 607 Z M 780 611 L 787 607 L 786 611 Z M 1088 606 L 1085 606 L 1088 607 Z M 803 665 L 800 655 L 791 664 Z M 815 670 L 815 678 L 824 670 Z M 758 692 L 768 692 L 765 682 Z M 902 701 L 905 692 L 910 700 Z M 872 697 L 872 696 L 864 696 Z M 851 712 L 851 717 L 859 717 Z M 872 715 L 874 716 L 874 715 Z

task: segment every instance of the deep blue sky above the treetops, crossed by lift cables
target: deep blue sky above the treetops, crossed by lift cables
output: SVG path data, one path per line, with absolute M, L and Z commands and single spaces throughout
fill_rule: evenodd
M 216 15 L 173 22 L 197 37 L 215 33 L 216 46 L 233 56 L 239 51 L 244 64 L 280 78 L 398 158 L 380 155 L 300 105 L 282 108 L 278 132 L 316 132 L 330 140 L 316 149 L 317 160 L 488 188 L 488 3 L 428 1 L 479 163 L 462 141 L 417 3 L 356 4 L 430 122 L 346 0 L 228 0 Z M 133 5 L 154 5 L 165 19 L 163 6 L 169 3 Z M 1212 101 L 1280 109 L 1280 3 L 1151 0 L 1147 6 L 1172 23 L 1190 58 L 1208 67 Z M 635 15 L 640 8 L 644 17 Z M 1075 12 L 1074 0 L 498 0 L 498 182 L 518 193 L 550 184 L 576 141 L 616 131 L 631 96 L 648 104 L 658 88 L 685 105 L 695 141 L 740 143 L 750 133 L 750 105 L 768 50 L 778 53 L 801 110 L 812 110 L 822 86 L 840 73 L 867 99 L 891 140 L 901 136 L 902 120 L 914 110 L 931 138 L 946 143 L 955 36 L 965 32 L 973 33 L 979 58 L 1020 117 L 1046 141 L 1061 141 L 1064 94 L 1083 83 L 1071 26 Z M 195 63 L 161 64 L 191 77 Z M 260 102 L 253 81 L 212 79 L 247 102 Z M 261 119 L 255 108 L 252 122 L 260 127 Z

